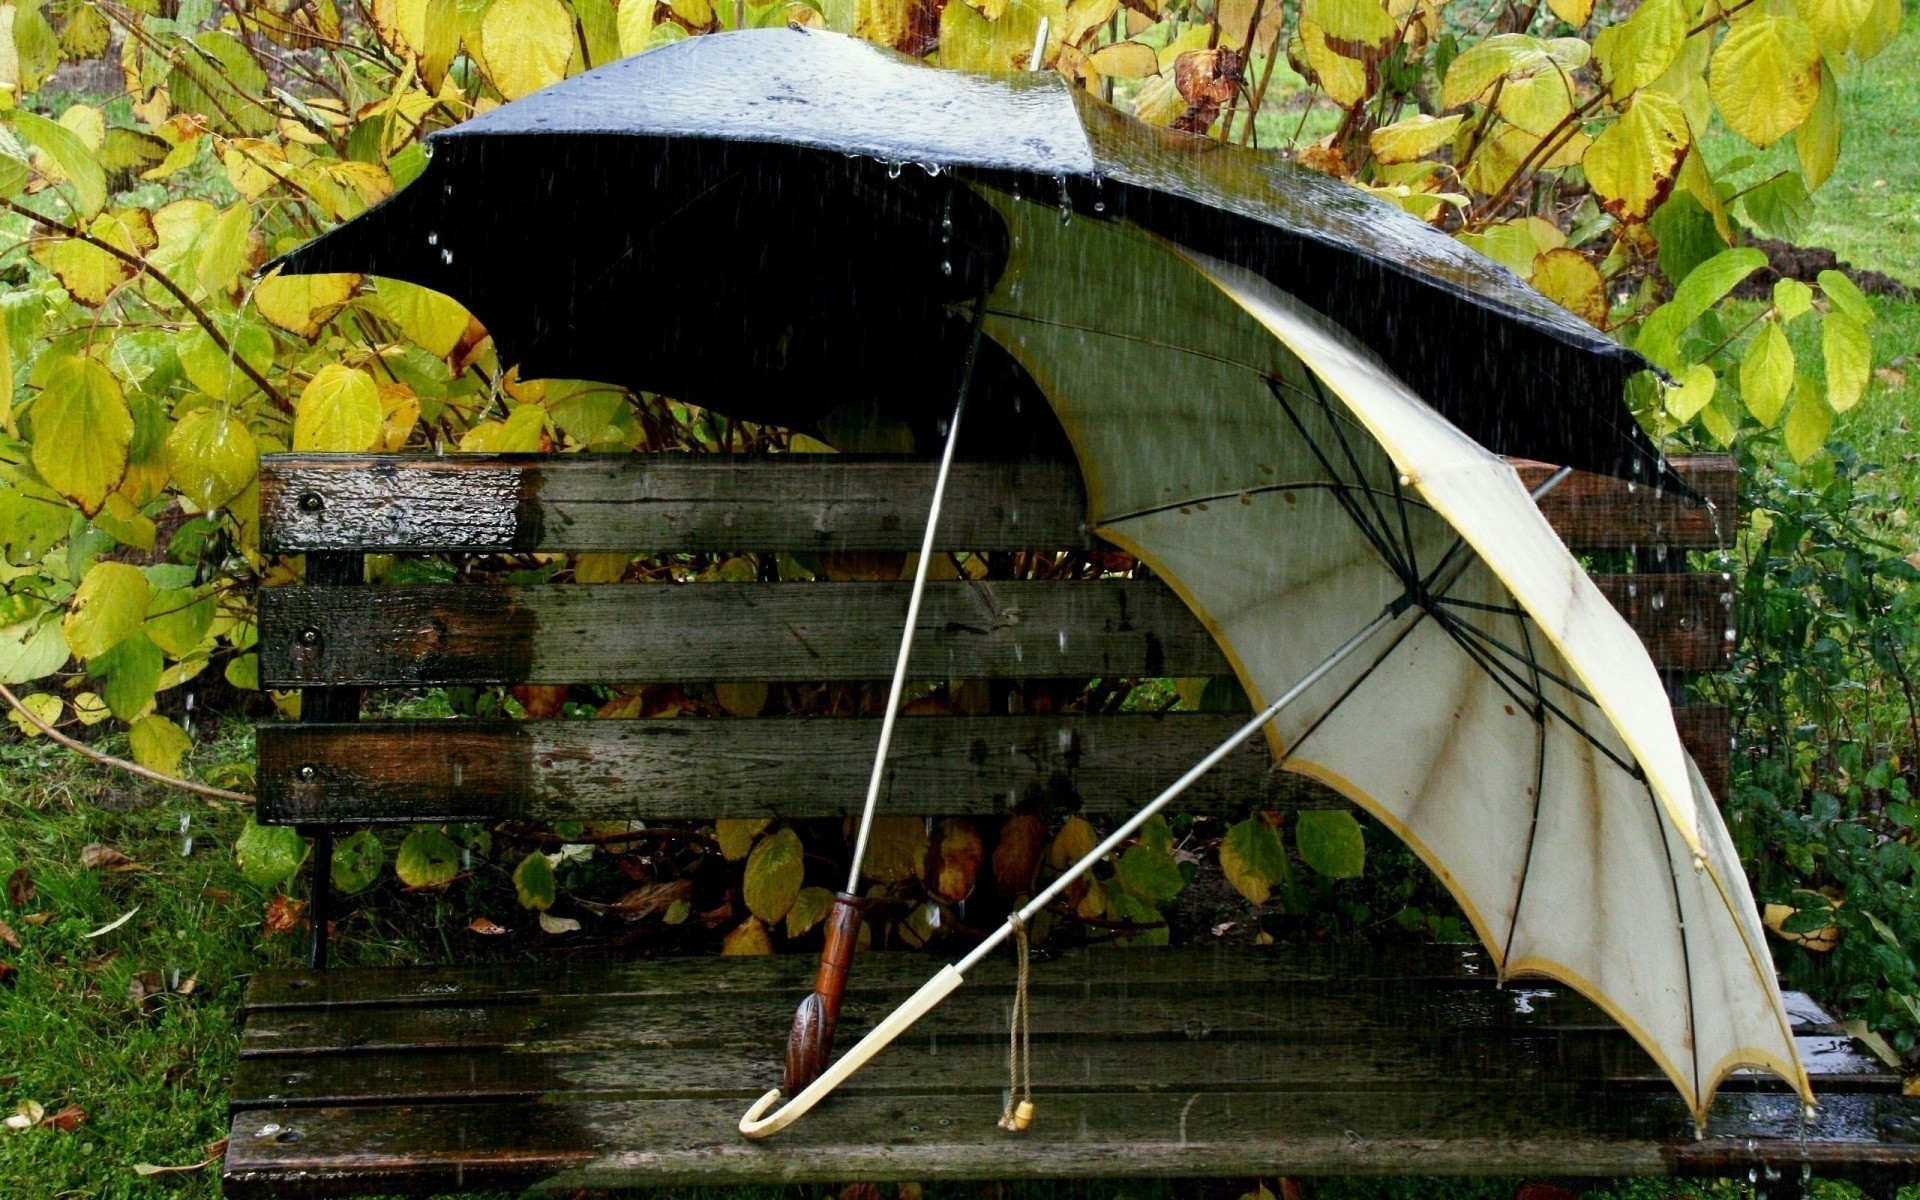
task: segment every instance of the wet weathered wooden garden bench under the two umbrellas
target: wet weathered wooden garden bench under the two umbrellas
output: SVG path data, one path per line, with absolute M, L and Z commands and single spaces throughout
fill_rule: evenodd
M 1544 468 L 1524 467 L 1526 472 Z M 1724 459 L 1682 463 L 1718 513 Z M 776 958 L 559 960 L 530 968 L 321 970 L 336 831 L 415 822 L 822 818 L 858 804 L 876 720 L 359 722 L 369 687 L 833 682 L 891 668 L 906 584 L 705 582 L 359 588 L 369 553 L 904 551 L 933 467 L 904 459 L 563 455 L 273 457 L 263 543 L 305 586 L 259 597 L 261 680 L 301 722 L 259 730 L 259 820 L 300 826 L 315 962 L 261 972 L 232 1085 L 230 1196 L 1094 1175 L 1747 1173 L 1803 1164 L 1874 1187 L 1920 1164 L 1920 1100 L 1807 996 L 1822 1094 L 1803 1123 L 1774 1081 L 1730 1081 L 1705 1139 L 1651 1060 L 1567 989 L 1498 991 L 1471 948 L 1073 950 L 1035 966 L 1041 1116 L 995 1129 L 1010 970 L 996 964 L 795 1129 L 733 1125 L 780 1075 L 812 977 Z M 1722 708 L 1690 672 L 1726 660 L 1730 588 L 1688 574 L 1709 511 L 1576 476 L 1544 503 L 1672 680 L 1682 733 L 1724 783 Z M 941 541 L 1094 551 L 1068 463 L 956 467 Z M 689 636 L 689 632 L 699 636 Z M 751 647 L 741 651 L 739 647 Z M 1152 578 L 937 582 L 925 680 L 1219 676 Z M 1133 810 L 1235 714 L 914 716 L 889 814 Z M 804 749 L 804 753 L 801 753 Z M 1196 814 L 1344 804 L 1248 749 L 1190 791 Z M 841 1044 L 939 966 L 866 954 Z M 1797 1194 L 1797 1192 L 1793 1192 Z

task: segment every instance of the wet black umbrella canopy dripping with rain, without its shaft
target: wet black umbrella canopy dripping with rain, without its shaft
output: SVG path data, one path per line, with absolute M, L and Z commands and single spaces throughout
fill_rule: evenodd
M 973 190 L 987 186 L 1258 271 L 1498 453 L 1684 490 L 1622 397 L 1645 363 L 1505 267 L 1050 71 L 968 75 L 829 33 L 730 33 L 568 79 L 428 148 L 420 179 L 278 265 L 453 296 L 530 378 L 795 428 L 866 403 L 927 430 L 966 357 L 960 309 L 1008 259 Z M 1020 397 L 1039 399 L 1012 359 L 989 351 L 981 372 L 970 440 L 1044 440 L 1010 428 Z

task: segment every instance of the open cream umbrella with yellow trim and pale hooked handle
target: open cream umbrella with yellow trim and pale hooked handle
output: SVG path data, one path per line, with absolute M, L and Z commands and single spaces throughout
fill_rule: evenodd
M 1398 833 L 1503 979 L 1596 1000 L 1697 1121 L 1740 1068 L 1812 1102 L 1661 680 L 1513 468 L 1267 278 L 1125 221 L 987 196 L 1012 255 L 985 334 L 1066 428 L 1092 528 L 1165 578 L 1233 662 L 1260 716 L 1231 745 L 1263 728 L 1281 766 Z M 801 1116 L 1008 933 L 741 1129 Z

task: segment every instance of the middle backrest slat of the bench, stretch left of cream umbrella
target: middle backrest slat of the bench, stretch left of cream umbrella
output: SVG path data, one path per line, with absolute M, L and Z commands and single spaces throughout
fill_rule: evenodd
M 624 584 L 261 591 L 261 680 L 588 684 L 881 680 L 910 584 Z M 1160 580 L 929 584 L 914 678 L 1213 676 Z

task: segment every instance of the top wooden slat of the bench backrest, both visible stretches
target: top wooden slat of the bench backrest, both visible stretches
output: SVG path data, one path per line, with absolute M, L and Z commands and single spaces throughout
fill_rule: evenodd
M 1732 459 L 1674 467 L 1734 511 Z M 931 492 L 933 463 L 845 455 L 269 455 L 259 503 L 278 553 L 904 551 Z M 1569 478 L 1542 511 L 1576 549 L 1724 543 L 1707 509 L 1605 476 Z M 1085 513 L 1071 463 L 958 463 L 941 545 L 1083 547 Z

